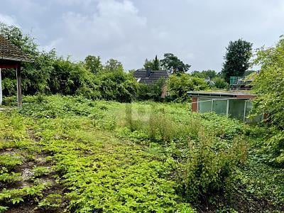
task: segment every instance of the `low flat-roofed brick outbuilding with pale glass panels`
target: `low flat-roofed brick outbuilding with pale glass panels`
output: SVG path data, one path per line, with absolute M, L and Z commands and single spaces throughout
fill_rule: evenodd
M 252 109 L 251 100 L 256 96 L 244 92 L 188 92 L 192 97 L 192 111 L 215 112 L 224 114 L 245 123 L 255 123 L 263 120 L 263 115 L 249 117 Z

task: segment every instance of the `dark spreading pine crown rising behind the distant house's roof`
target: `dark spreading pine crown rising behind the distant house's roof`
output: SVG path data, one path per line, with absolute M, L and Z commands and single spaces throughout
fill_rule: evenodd
M 185 64 L 173 53 L 165 53 L 164 58 L 160 60 L 160 65 L 172 70 L 173 74 L 181 74 L 190 69 L 190 65 Z

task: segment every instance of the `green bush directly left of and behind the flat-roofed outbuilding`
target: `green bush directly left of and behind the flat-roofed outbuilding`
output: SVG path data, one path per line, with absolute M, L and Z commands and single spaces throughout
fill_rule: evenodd
M 188 74 L 171 75 L 168 83 L 170 98 L 175 102 L 186 102 L 190 99 L 187 92 L 209 89 L 207 83 L 199 77 Z

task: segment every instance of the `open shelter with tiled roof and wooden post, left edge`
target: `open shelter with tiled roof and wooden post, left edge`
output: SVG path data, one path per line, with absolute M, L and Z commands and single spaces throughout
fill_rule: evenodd
M 1 69 L 16 70 L 18 107 L 22 106 L 21 62 L 32 62 L 28 54 L 0 35 L 0 105 L 2 104 Z

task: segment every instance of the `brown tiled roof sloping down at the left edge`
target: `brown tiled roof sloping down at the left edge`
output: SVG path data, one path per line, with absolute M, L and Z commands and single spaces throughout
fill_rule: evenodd
M 16 45 L 13 45 L 11 41 L 0 35 L 0 60 L 13 60 L 13 61 L 23 61 L 31 62 L 31 58 L 28 54 L 23 53 L 23 51 Z

